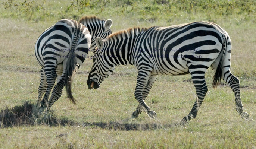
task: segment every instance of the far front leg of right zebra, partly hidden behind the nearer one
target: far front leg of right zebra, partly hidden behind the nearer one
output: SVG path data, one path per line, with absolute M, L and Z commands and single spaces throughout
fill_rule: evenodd
M 142 97 L 143 97 L 144 102 L 145 102 L 145 99 L 147 98 L 147 96 L 149 95 L 149 91 L 152 88 L 154 82 L 156 82 L 157 76 L 158 75 L 151 75 L 149 77 L 149 80 L 147 81 L 146 88 L 142 92 Z M 139 104 L 138 107 L 136 108 L 136 110 L 132 113 L 132 118 L 137 118 L 139 116 L 139 114 L 141 114 L 141 112 L 142 112 L 142 107 Z

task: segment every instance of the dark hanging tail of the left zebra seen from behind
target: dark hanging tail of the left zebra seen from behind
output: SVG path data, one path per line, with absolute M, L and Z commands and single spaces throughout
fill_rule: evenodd
M 72 78 L 76 72 L 76 62 L 75 62 L 75 53 L 74 50 L 71 49 L 69 52 L 68 61 L 66 63 L 66 72 L 65 72 L 65 88 L 68 95 L 68 99 L 71 100 L 74 104 L 76 104 L 75 98 L 72 95 Z

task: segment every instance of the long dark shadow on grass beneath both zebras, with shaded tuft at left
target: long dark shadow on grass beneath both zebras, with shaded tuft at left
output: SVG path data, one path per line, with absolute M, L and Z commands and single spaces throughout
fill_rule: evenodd
M 99 127 L 109 130 L 156 130 L 160 128 L 173 127 L 177 124 L 169 124 L 162 126 L 157 123 L 140 124 L 140 123 L 125 123 L 118 122 L 82 122 L 76 123 L 72 120 L 58 119 L 54 115 L 54 111 L 49 114 L 41 114 L 38 116 L 35 104 L 28 101 L 24 102 L 21 106 L 15 106 L 12 109 L 8 107 L 1 110 L 0 113 L 0 128 L 15 127 L 15 126 L 34 126 L 34 125 L 49 125 L 49 126 L 91 126 Z

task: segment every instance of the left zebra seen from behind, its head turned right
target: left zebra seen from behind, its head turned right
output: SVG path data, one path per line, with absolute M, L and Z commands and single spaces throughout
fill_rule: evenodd
M 88 57 L 90 47 L 96 47 L 95 38 L 111 34 L 111 25 L 111 19 L 105 21 L 95 16 L 85 16 L 79 22 L 62 19 L 40 35 L 35 43 L 35 56 L 42 67 L 37 105 L 49 109 L 60 98 L 64 86 L 68 98 L 75 104 L 71 78 Z

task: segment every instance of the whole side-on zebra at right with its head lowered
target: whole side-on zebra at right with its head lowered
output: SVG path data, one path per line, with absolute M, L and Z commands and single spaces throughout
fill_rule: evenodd
M 89 89 L 97 89 L 115 66 L 134 65 L 138 69 L 135 98 L 139 106 L 132 113 L 136 118 L 142 109 L 149 117 L 156 117 L 145 103 L 159 74 L 185 75 L 190 73 L 197 100 L 182 121 L 196 118 L 199 107 L 208 91 L 205 72 L 215 69 L 213 87 L 223 79 L 235 94 L 236 110 L 244 112 L 240 98 L 240 84 L 230 72 L 231 40 L 224 29 L 212 22 L 192 22 L 169 27 L 130 28 L 113 33 L 106 39 L 96 38 L 99 50 L 95 51 L 93 66 L 88 76 Z

